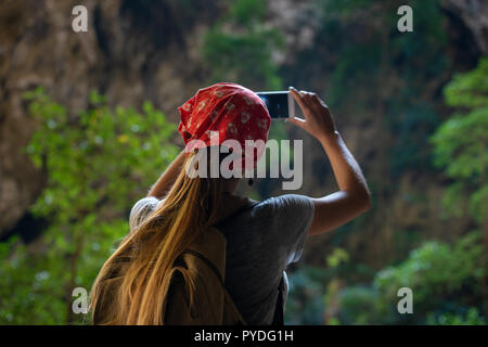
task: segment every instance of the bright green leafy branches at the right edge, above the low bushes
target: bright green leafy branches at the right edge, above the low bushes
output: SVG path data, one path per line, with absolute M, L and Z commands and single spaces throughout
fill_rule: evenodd
M 460 108 L 431 138 L 435 164 L 455 179 L 444 198 L 451 210 L 464 210 L 479 223 L 488 216 L 488 59 L 470 73 L 454 76 L 445 88 L 446 102 Z M 465 196 L 465 198 L 457 198 Z

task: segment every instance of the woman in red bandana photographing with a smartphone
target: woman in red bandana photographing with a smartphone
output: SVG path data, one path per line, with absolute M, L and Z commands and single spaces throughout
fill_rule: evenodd
M 251 139 L 266 141 L 270 126 L 266 105 L 251 90 L 235 83 L 198 90 L 178 107 L 178 129 L 185 150 L 151 188 L 147 197 L 133 206 L 131 232 L 105 262 L 93 285 L 92 307 L 97 307 L 103 292 L 100 279 L 112 274 L 120 279 L 113 292 L 105 292 L 110 300 L 103 306 L 103 323 L 163 323 L 160 293 L 169 286 L 165 279 L 174 262 L 198 233 L 219 223 L 227 239 L 227 290 L 245 322 L 271 324 L 277 287 L 286 267 L 299 259 L 306 237 L 334 230 L 370 208 L 364 177 L 326 105 L 314 93 L 294 88 L 291 93 L 305 119 L 288 121 L 322 144 L 339 191 L 323 197 L 285 194 L 254 202 L 234 194 L 240 178 L 189 176 L 196 153 L 229 139 L 241 144 Z M 252 160 L 246 160 L 247 152 L 243 152 L 241 162 L 234 162 L 241 164 L 237 168 L 254 168 L 261 154 L 257 152 L 253 151 Z M 219 156 L 219 164 L 222 158 Z M 242 206 L 248 208 L 235 214 Z M 286 277 L 284 284 L 285 299 Z

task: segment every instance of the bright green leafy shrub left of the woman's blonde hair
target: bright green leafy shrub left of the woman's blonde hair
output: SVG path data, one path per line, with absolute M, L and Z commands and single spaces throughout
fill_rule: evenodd
M 111 246 L 128 231 L 131 205 L 177 155 L 169 143 L 176 127 L 149 102 L 142 113 L 111 110 L 92 92 L 90 107 L 70 116 L 41 88 L 25 98 L 39 123 L 27 153 L 49 174 L 31 211 L 50 224 L 38 252 L 15 241 L 2 245 L 0 292 L 9 299 L 0 303 L 0 322 L 79 323 L 72 291 L 90 290 Z

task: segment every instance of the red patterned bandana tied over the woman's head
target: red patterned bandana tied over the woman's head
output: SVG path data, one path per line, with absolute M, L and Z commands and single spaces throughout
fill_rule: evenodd
M 244 151 L 245 140 L 262 140 L 264 143 L 268 140 L 271 117 L 266 104 L 255 92 L 236 83 L 220 82 L 198 89 L 178 111 L 181 116 L 178 131 L 183 137 L 187 153 L 226 140 L 236 140 Z M 242 167 L 245 167 L 245 155 Z M 253 155 L 253 167 L 261 155 L 259 150 Z

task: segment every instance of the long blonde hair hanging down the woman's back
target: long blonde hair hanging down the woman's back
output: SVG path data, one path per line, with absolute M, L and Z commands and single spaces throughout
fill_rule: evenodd
M 190 154 L 160 207 L 121 241 L 91 290 L 94 324 L 163 324 L 163 295 L 178 256 L 214 223 L 221 206 L 218 178 L 191 178 Z M 184 273 L 184 272 L 183 272 Z M 190 303 L 194 285 L 190 278 Z

